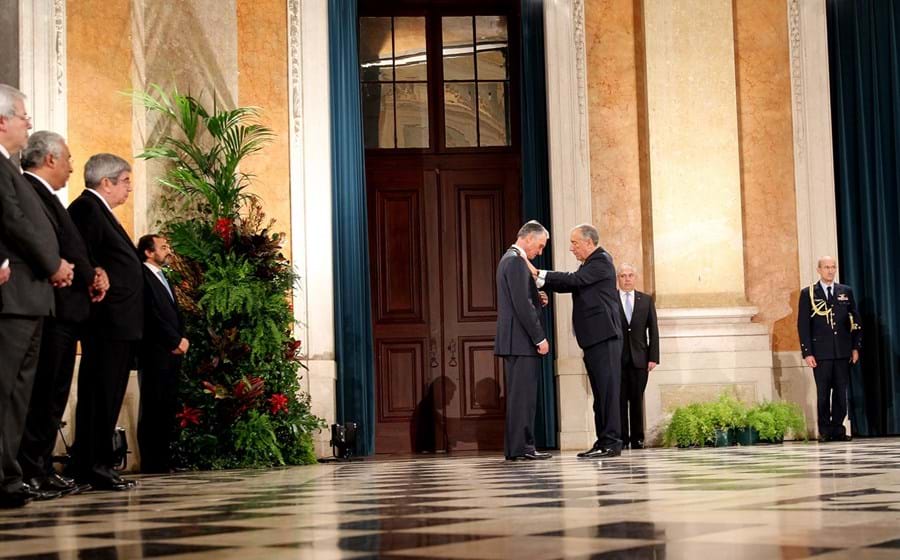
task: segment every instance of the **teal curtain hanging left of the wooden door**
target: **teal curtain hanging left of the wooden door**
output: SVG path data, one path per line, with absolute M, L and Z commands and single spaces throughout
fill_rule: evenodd
M 356 0 L 329 0 L 337 420 L 356 422 L 356 454 L 370 455 L 375 451 L 375 357 L 356 22 Z

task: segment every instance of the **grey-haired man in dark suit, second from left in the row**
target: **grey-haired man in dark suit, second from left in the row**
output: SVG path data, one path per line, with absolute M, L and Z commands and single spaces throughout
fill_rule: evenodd
M 32 488 L 68 494 L 79 487 L 72 479 L 56 472 L 51 456 L 69 400 L 81 328 L 90 315 L 91 301 L 103 299 L 109 280 L 106 272 L 91 261 L 78 228 L 55 194 L 66 186 L 72 174 L 65 139 L 55 132 L 36 132 L 28 139 L 21 160 L 25 179 L 53 219 L 60 254 L 75 265 L 75 277 L 71 286 L 53 291 L 56 315 L 44 320 L 34 388 L 19 447 L 19 464 Z

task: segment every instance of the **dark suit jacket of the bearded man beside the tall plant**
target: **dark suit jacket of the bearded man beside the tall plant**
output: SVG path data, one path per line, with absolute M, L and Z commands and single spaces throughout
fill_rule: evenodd
M 159 278 L 146 266 L 144 273 L 144 339 L 141 341 L 141 367 L 174 363 L 172 350 L 184 336 L 184 322 L 178 303 L 173 301 Z M 171 285 L 172 294 L 175 286 Z

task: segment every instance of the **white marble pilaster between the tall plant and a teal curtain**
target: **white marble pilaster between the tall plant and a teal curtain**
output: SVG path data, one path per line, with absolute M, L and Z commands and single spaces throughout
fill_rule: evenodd
M 288 0 L 291 152 L 291 260 L 300 275 L 294 291 L 297 336 L 306 349 L 303 389 L 312 411 L 336 417 L 334 282 L 331 243 L 331 131 L 328 90 L 328 6 Z M 329 432 L 316 452 L 330 455 Z

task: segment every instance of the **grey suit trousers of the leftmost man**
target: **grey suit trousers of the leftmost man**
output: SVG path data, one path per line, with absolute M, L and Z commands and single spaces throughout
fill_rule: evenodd
M 22 489 L 17 460 L 41 349 L 41 317 L 0 317 L 0 494 Z

